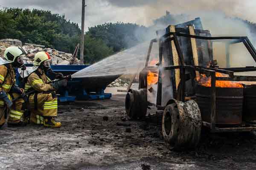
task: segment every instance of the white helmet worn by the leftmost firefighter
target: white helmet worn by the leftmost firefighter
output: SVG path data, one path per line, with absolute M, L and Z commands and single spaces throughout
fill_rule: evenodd
M 4 51 L 3 57 L 8 62 L 14 62 L 17 57 L 20 57 L 23 54 L 23 51 L 19 47 L 10 46 L 6 48 L 6 51 Z

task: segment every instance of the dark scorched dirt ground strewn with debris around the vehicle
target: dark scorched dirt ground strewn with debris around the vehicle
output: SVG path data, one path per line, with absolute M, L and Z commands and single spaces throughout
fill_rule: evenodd
M 168 150 L 161 115 L 125 119 L 125 95 L 59 106 L 62 127 L 0 129 L 0 170 L 205 170 L 254 169 L 252 133 L 204 132 L 198 149 Z M 107 116 L 107 117 L 104 117 Z M 105 120 L 104 120 L 105 119 Z

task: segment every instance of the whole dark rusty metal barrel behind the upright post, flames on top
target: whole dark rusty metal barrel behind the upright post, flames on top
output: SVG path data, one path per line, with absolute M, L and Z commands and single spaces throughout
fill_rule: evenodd
M 216 124 L 241 124 L 243 88 L 216 88 Z M 198 85 L 196 99 L 202 121 L 211 122 L 211 87 Z

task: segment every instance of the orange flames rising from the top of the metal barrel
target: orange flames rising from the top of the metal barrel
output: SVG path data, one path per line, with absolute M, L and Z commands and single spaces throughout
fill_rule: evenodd
M 216 72 L 216 77 L 228 77 L 227 74 L 221 74 Z M 205 74 L 201 74 L 200 77 L 197 77 L 199 85 L 203 85 L 206 87 L 211 87 L 211 78 L 207 77 Z M 215 86 L 218 88 L 243 88 L 243 85 L 233 81 L 220 81 L 217 80 Z

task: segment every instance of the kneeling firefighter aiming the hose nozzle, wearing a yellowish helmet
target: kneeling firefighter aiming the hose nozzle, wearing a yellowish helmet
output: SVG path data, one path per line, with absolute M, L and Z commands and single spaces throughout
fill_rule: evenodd
M 37 69 L 27 78 L 25 84 L 26 93 L 35 91 L 29 95 L 30 122 L 43 124 L 44 127 L 60 127 L 60 122 L 55 122 L 58 112 L 58 101 L 55 91 L 64 86 L 65 81 L 49 83 L 47 72 L 51 70 L 50 56 L 41 51 L 35 54 L 34 67 Z

